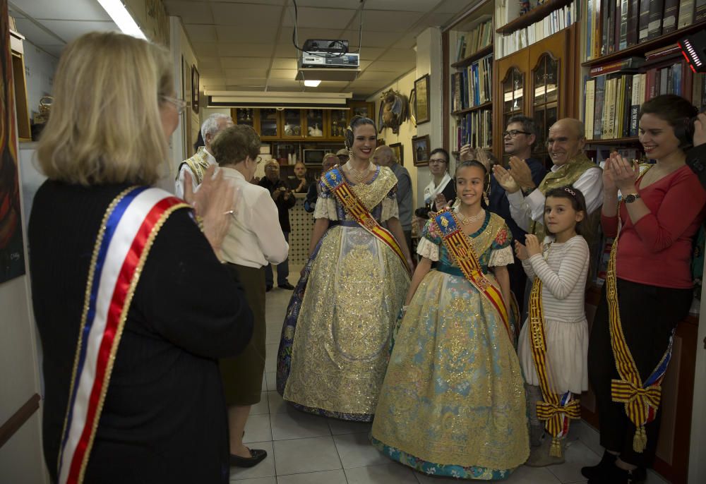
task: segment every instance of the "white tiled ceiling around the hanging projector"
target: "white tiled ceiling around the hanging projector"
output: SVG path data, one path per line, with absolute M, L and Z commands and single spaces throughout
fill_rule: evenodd
M 179 16 L 208 90 L 353 92 L 381 90 L 416 67 L 416 37 L 443 27 L 479 0 L 366 0 L 360 42 L 361 74 L 348 82 L 304 87 L 292 43 L 292 0 L 164 0 Z M 298 45 L 306 39 L 348 40 L 358 49 L 360 0 L 298 0 Z M 97 0 L 11 0 L 17 28 L 33 44 L 59 56 L 90 30 L 117 30 Z

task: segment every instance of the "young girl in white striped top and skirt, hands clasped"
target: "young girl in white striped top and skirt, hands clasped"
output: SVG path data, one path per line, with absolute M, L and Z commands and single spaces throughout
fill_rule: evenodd
M 551 235 L 543 243 L 531 234 L 526 245 L 515 242 L 517 258 L 534 282 L 517 348 L 530 407 L 529 466 L 563 462 L 561 440 L 570 419 L 580 413 L 574 396 L 588 389 L 584 293 L 589 248 L 581 236 L 585 217 L 579 190 L 554 188 L 544 204 L 544 226 Z

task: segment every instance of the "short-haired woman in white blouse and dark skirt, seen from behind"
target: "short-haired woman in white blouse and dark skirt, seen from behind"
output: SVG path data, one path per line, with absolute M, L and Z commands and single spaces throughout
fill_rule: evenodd
M 245 290 L 253 312 L 253 339 L 243 353 L 220 361 L 228 404 L 230 464 L 251 467 L 267 452 L 243 444 L 250 407 L 260 401 L 265 370 L 265 265 L 287 258 L 289 246 L 270 192 L 250 183 L 260 162 L 260 137 L 250 126 L 230 126 L 217 135 L 213 155 L 239 202 L 223 240 L 222 254 Z

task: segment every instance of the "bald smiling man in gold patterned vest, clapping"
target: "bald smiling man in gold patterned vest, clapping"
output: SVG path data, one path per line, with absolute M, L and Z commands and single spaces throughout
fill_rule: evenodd
M 586 144 L 584 125 L 578 119 L 559 119 L 549 128 L 546 140 L 549 157 L 554 162 L 542 183 L 537 186 L 527 164 L 510 158 L 510 170 L 496 165 L 493 172 L 510 201 L 510 214 L 523 230 L 544 240 L 544 194 L 551 188 L 573 186 L 583 193 L 589 216 L 585 237 L 591 243 L 595 238 L 603 201 L 602 170 L 583 152 Z M 598 215 L 596 215 L 598 214 Z

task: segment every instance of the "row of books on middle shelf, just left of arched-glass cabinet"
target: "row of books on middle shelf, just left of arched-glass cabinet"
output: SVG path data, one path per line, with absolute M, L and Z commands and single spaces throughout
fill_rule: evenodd
M 480 106 L 492 99 L 493 54 L 451 75 L 451 111 Z

